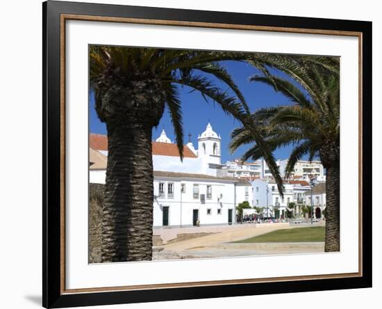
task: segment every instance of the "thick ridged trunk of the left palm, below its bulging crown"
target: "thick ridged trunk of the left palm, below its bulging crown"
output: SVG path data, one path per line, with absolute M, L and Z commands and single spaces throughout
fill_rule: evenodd
M 108 167 L 102 262 L 151 260 L 153 162 L 151 126 L 107 123 Z

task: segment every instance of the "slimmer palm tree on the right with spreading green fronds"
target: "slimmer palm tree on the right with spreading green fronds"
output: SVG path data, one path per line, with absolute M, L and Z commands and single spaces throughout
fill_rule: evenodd
M 285 177 L 290 177 L 294 164 L 308 155 L 319 157 L 326 169 L 326 238 L 325 251 L 340 250 L 340 64 L 338 57 L 257 55 L 252 64 L 263 74 L 251 77 L 274 87 L 292 102 L 288 106 L 259 109 L 243 127 L 232 133 L 231 151 L 240 145 L 254 144 L 243 160 L 262 157 L 262 145 L 253 134 L 256 129 L 263 136 L 268 150 L 294 145 Z M 268 67 L 282 70 L 304 88 L 300 90 L 290 79 L 277 77 Z M 267 159 L 266 159 L 267 161 Z M 267 161 L 268 164 L 268 161 Z M 272 162 L 273 164 L 273 162 Z M 283 194 L 279 171 L 272 171 Z

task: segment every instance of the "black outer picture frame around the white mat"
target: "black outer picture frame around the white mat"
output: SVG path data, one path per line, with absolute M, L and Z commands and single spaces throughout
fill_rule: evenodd
M 47 1 L 43 15 L 43 267 L 42 305 L 45 308 L 96 306 L 225 296 L 245 296 L 372 287 L 372 22 L 201 10 L 117 6 L 94 3 Z M 288 29 L 356 31 L 362 34 L 362 275 L 347 278 L 236 283 L 191 287 L 165 287 L 149 290 L 66 293 L 63 290 L 61 238 L 63 162 L 60 120 L 60 16 L 62 14 L 160 19 L 231 25 L 256 25 Z

